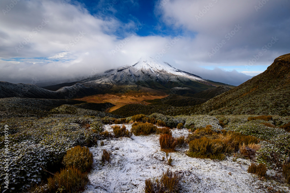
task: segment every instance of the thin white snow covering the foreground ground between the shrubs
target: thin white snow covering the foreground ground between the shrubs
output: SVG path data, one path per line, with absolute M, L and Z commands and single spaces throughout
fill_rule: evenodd
M 131 129 L 131 125 L 126 125 Z M 106 125 L 107 131 L 113 131 Z M 174 137 L 188 135 L 186 129 L 173 129 Z M 197 159 L 185 155 L 188 146 L 174 153 L 172 166 L 162 161 L 165 153 L 160 151 L 159 135 L 132 136 L 105 140 L 104 146 L 91 147 L 94 156 L 93 168 L 90 171 L 90 185 L 84 191 L 93 192 L 144 192 L 145 180 L 160 178 L 168 168 L 182 175 L 181 192 L 268 192 L 271 188 L 290 192 L 289 185 L 270 179 L 260 179 L 247 173 L 249 160 L 233 161 L 234 157 L 218 162 L 210 159 Z M 112 151 L 112 163 L 101 162 L 103 149 Z M 267 171 L 269 174 L 270 171 Z M 271 176 L 275 172 L 271 172 Z

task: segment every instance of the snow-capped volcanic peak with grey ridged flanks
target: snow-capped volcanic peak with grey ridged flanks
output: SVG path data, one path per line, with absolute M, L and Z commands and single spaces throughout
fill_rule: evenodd
M 174 68 L 166 62 L 159 62 L 151 57 L 142 57 L 131 65 L 106 70 L 91 79 L 80 81 L 84 86 L 97 88 L 100 92 L 116 92 L 128 87 L 132 90 L 153 88 L 170 90 L 189 88 L 186 93 L 196 93 L 208 88 L 225 85 L 202 79 L 201 77 Z M 184 90 L 184 89 L 183 89 Z

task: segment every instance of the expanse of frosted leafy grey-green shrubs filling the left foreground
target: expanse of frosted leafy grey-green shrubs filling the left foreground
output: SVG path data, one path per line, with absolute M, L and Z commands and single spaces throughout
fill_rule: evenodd
M 94 123 L 97 130 L 104 125 L 91 118 L 26 118 L 10 119 L 6 124 L 18 125 L 18 133 L 9 135 L 9 188 L 16 192 L 25 191 L 31 185 L 41 182 L 46 172 L 43 169 L 59 163 L 68 149 L 76 145 L 89 144 L 97 134 L 83 127 Z M 0 126 L 2 126 L 0 124 Z M 0 137 L 1 155 L 5 160 L 3 136 Z M 5 163 L 1 162 L 1 168 Z M 1 170 L 0 176 L 4 175 Z M 4 181 L 0 179 L 2 192 Z

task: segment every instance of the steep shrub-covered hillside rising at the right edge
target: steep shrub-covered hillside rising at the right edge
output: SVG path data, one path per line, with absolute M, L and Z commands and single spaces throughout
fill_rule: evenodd
M 276 58 L 263 73 L 194 107 L 195 114 L 290 113 L 290 54 Z

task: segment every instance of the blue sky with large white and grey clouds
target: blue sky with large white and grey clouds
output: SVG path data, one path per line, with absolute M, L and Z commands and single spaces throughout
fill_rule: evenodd
M 260 2 L 3 0 L 0 81 L 87 77 L 150 56 L 239 85 L 290 52 L 290 1 Z

